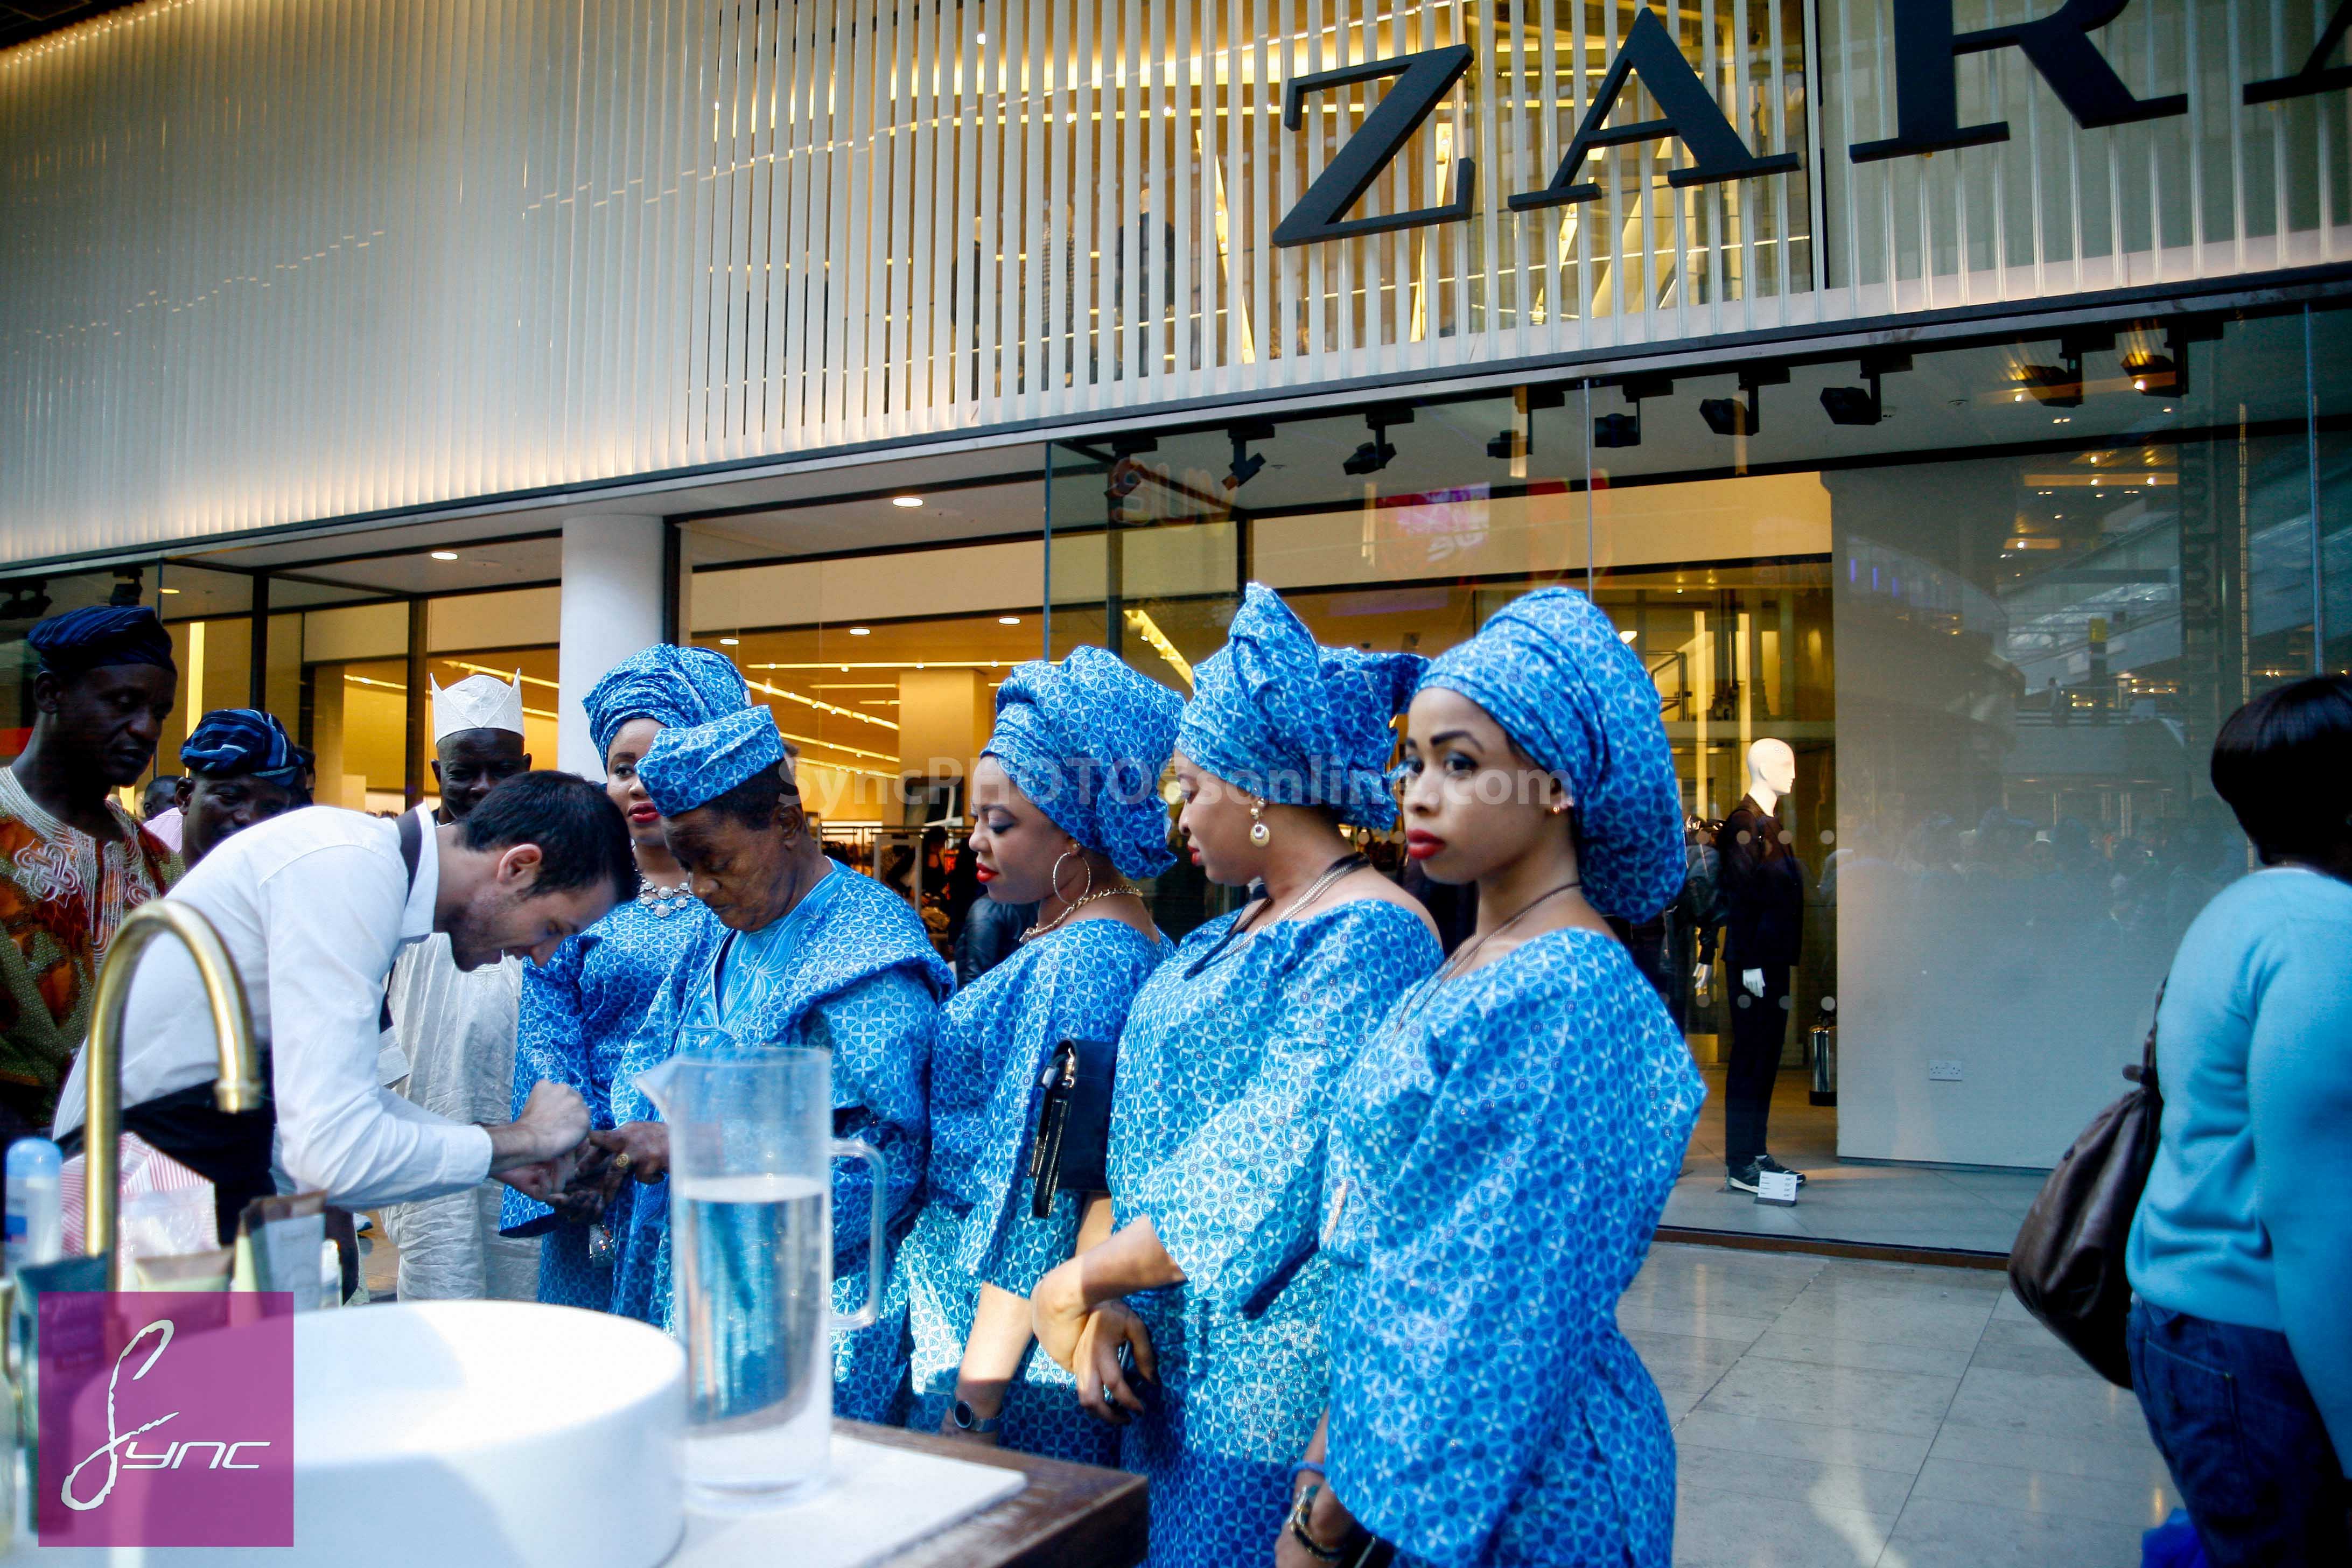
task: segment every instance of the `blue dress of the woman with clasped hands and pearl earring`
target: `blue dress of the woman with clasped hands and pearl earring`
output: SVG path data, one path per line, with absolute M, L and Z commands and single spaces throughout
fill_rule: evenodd
M 1334 1088 L 1439 947 L 1411 910 L 1355 900 L 1221 945 L 1192 931 L 1120 1034 L 1110 1185 L 1183 1286 L 1129 1298 L 1160 1387 L 1122 1429 L 1150 1479 L 1155 1568 L 1263 1563 L 1322 1415 L 1331 1267 L 1315 1258 Z

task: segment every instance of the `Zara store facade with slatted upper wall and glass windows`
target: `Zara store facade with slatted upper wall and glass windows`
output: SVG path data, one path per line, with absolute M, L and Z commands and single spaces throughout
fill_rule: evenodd
M 2218 722 L 2352 663 L 2331 7 L 2044 9 L 127 7 L 0 54 L 0 630 L 158 604 L 374 809 L 430 679 L 593 769 L 691 637 L 920 889 L 1021 658 L 1578 585 L 1693 837 L 1797 757 L 1816 1180 L 1717 1110 L 1668 1220 L 2002 1251 L 2249 865 Z

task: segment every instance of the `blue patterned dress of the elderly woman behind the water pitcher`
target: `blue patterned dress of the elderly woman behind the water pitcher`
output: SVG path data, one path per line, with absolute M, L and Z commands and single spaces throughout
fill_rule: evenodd
M 870 1206 L 887 1206 L 896 1251 L 922 1185 L 931 1037 L 950 990 L 955 976 L 915 910 L 880 882 L 833 865 L 771 926 L 736 933 L 710 922 L 710 936 L 670 971 L 621 1056 L 614 1117 L 661 1119 L 635 1074 L 666 1063 L 687 1027 L 722 1027 L 743 1046 L 830 1048 L 833 1131 L 870 1143 L 889 1171 L 887 1192 L 875 1194 L 866 1161 L 833 1161 L 833 1305 L 856 1309 L 866 1298 Z M 668 1182 L 642 1190 L 633 1215 L 640 1239 L 630 1246 L 654 1260 L 649 1298 L 656 1321 L 675 1331 L 668 1218 Z M 882 1274 L 891 1279 L 889 1258 Z M 870 1328 L 833 1340 L 835 1415 L 901 1420 L 906 1363 L 906 1300 L 887 1295 Z

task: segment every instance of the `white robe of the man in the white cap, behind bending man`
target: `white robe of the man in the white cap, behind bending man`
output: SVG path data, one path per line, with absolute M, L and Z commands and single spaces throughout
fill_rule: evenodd
M 409 1058 L 400 1093 L 452 1121 L 506 1121 L 515 1093 L 522 961 L 466 973 L 447 936 L 393 964 L 393 1034 Z M 499 1234 L 499 1187 L 482 1182 L 383 1211 L 400 1248 L 400 1300 L 539 1300 L 539 1239 Z

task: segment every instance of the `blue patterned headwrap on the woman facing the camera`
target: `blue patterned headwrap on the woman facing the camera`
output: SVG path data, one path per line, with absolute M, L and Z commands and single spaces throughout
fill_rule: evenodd
M 1576 802 L 1576 867 L 1602 914 L 1649 919 L 1689 870 L 1658 686 L 1592 599 L 1543 588 L 1446 649 L 1421 691 L 1461 691 Z

